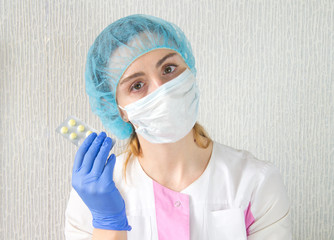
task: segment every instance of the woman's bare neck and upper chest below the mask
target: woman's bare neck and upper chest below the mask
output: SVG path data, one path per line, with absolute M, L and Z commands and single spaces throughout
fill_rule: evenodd
M 153 144 L 140 135 L 142 156 L 139 163 L 146 174 L 161 185 L 182 191 L 204 172 L 212 152 L 212 143 L 206 149 L 199 147 L 190 131 L 175 143 Z

